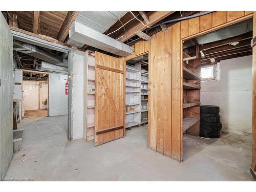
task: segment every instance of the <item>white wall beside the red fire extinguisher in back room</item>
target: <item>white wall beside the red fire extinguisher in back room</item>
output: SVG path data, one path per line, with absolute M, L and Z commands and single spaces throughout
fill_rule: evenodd
M 49 117 L 68 115 L 68 95 L 65 94 L 65 84 L 68 75 L 49 74 Z

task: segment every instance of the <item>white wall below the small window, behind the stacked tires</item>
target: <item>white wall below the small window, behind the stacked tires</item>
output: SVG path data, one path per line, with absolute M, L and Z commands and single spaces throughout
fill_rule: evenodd
M 252 56 L 220 63 L 220 81 L 201 82 L 201 104 L 220 106 L 222 131 L 251 133 Z

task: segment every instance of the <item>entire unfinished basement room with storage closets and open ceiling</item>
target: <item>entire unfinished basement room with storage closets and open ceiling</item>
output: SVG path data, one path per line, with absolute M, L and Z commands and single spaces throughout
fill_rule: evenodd
M 255 11 L 68 4 L 1 10 L 1 181 L 256 180 Z

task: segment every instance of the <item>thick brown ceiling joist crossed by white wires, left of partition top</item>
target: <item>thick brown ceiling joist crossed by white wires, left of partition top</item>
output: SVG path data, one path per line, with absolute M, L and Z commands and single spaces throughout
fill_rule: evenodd
M 175 11 L 154 11 L 151 15 L 148 16 L 150 19 L 150 24 L 148 26 L 152 26 L 162 20 L 163 18 L 169 16 L 170 14 L 174 13 Z M 118 40 L 124 42 L 127 39 L 132 38 L 136 35 L 138 31 L 143 31 L 147 27 L 144 26 L 142 23 L 138 23 L 137 25 L 132 26 L 130 29 L 126 30 L 126 34 L 124 33 L 121 38 Z M 126 38 L 127 37 L 127 38 Z

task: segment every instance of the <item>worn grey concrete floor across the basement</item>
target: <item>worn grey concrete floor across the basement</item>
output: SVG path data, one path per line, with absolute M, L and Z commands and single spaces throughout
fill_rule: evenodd
M 147 148 L 146 126 L 97 147 L 93 141 L 67 141 L 67 116 L 30 120 L 20 128 L 25 129 L 22 150 L 14 154 L 6 179 L 251 181 L 251 134 L 184 135 L 184 162 L 179 163 Z

